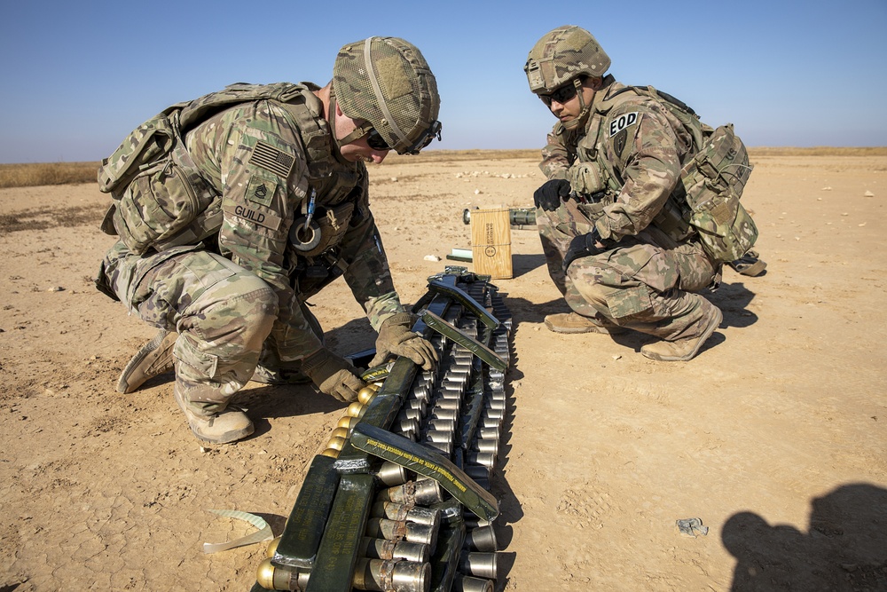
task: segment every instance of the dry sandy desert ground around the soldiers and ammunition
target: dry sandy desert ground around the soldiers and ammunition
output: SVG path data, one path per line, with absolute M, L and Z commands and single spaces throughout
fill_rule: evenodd
M 688 363 L 644 358 L 643 335 L 547 331 L 565 306 L 538 235 L 512 234 L 498 589 L 887 589 L 887 155 L 752 161 L 767 271 L 725 270 L 724 321 Z M 543 180 L 499 153 L 371 175 L 405 303 L 469 247 L 463 209 L 526 206 Z M 265 546 L 204 555 L 251 530 L 206 510 L 280 533 L 343 406 L 249 383 L 255 436 L 201 450 L 169 376 L 115 391 L 154 331 L 92 287 L 105 204 L 94 185 L 0 190 L 0 591 L 246 590 Z M 335 350 L 372 345 L 341 280 L 311 304 Z M 707 535 L 681 535 L 689 517 Z

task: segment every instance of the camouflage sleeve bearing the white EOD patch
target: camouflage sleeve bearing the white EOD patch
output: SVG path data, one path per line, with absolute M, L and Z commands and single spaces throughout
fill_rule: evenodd
M 613 107 L 602 122 L 598 147 L 608 174 L 622 185 L 595 221 L 598 232 L 616 240 L 640 233 L 663 208 L 680 177 L 679 138 L 665 107 L 652 100 Z

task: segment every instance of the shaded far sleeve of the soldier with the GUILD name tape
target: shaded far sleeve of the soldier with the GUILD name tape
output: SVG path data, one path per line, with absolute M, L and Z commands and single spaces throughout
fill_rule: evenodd
M 345 281 L 373 329 L 378 331 L 383 320 L 396 312 L 404 312 L 391 279 L 379 229 L 369 209 L 365 182 L 351 226 L 341 242 L 341 261 L 347 265 Z

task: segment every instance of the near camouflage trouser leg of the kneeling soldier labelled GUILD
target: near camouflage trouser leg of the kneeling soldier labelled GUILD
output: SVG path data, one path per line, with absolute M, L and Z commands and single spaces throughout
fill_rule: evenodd
M 176 381 L 200 414 L 224 409 L 249 381 L 277 318 L 264 280 L 193 247 L 137 256 L 122 242 L 102 262 L 122 303 L 156 328 L 176 331 Z

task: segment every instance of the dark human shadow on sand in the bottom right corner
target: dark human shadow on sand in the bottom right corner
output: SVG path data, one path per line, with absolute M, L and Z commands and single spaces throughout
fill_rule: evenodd
M 811 505 L 806 533 L 749 511 L 726 521 L 731 592 L 887 590 L 887 489 L 842 485 Z

